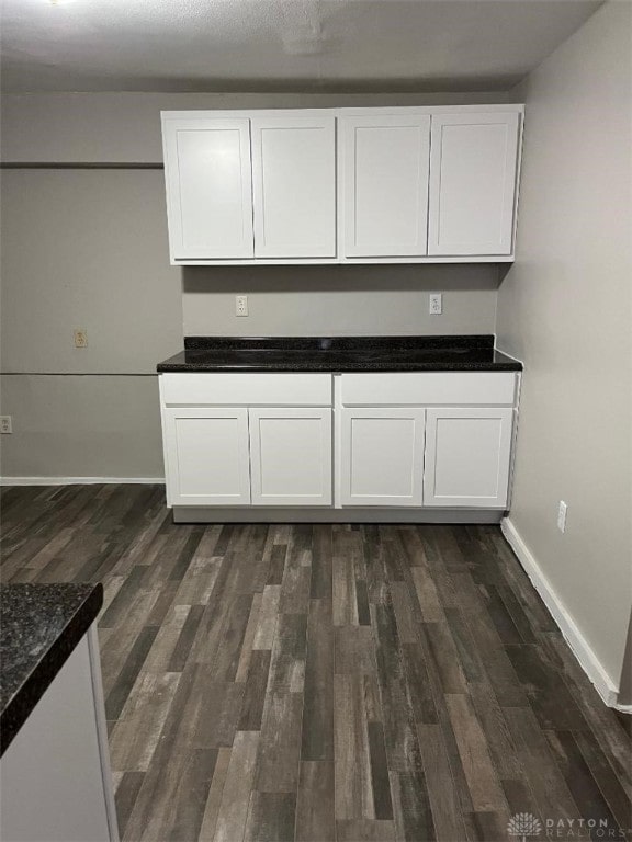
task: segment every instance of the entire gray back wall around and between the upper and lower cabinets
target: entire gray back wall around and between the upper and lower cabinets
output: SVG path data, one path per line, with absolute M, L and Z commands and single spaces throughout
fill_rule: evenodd
M 2 157 L 159 163 L 162 109 L 473 101 L 507 95 L 8 94 Z M 495 266 L 171 268 L 159 169 L 3 170 L 0 187 L 2 371 L 13 373 L 0 400 L 14 426 L 1 441 L 5 477 L 161 477 L 153 372 L 183 332 L 494 330 Z M 429 291 L 445 292 L 443 316 L 428 317 Z M 244 292 L 251 316 L 237 319 Z M 75 349 L 75 327 L 87 328 L 87 349 Z

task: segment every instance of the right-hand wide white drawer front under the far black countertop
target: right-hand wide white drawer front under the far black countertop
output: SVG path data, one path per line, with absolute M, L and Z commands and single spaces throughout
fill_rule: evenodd
M 342 374 L 346 407 L 380 406 L 512 406 L 517 376 L 512 372 L 394 372 Z

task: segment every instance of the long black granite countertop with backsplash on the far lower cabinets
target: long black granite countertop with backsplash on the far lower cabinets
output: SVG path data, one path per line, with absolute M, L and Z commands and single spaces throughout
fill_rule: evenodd
M 520 372 L 493 335 L 187 337 L 158 372 Z

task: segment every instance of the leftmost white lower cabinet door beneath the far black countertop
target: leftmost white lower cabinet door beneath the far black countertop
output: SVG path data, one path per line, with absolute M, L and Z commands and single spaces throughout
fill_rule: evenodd
M 167 407 L 163 422 L 171 505 L 250 503 L 247 409 Z

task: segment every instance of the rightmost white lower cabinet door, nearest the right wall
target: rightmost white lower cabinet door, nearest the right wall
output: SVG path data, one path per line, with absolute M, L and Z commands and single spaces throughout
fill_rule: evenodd
M 424 505 L 503 509 L 512 419 L 511 408 L 428 409 Z

